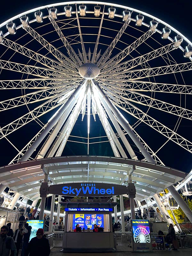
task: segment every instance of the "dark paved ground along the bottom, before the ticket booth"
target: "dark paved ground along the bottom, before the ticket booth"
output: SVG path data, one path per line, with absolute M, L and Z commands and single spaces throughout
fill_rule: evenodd
M 63 256 L 128 256 L 132 254 L 132 256 L 144 256 L 146 255 L 146 252 L 105 252 L 105 253 L 68 253 L 68 252 L 60 252 L 62 248 L 53 248 L 51 250 L 50 256 L 57 256 L 57 255 L 63 255 Z M 147 252 L 150 256 L 190 256 L 192 255 L 192 250 L 182 250 L 179 251 L 153 251 L 153 252 Z

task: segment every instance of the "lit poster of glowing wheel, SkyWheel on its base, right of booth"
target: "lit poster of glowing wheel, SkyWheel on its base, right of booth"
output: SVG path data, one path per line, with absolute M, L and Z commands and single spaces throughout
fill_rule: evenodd
M 151 237 L 148 220 L 132 220 L 133 251 L 151 251 Z

